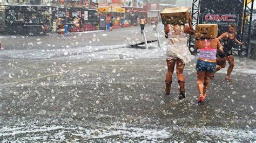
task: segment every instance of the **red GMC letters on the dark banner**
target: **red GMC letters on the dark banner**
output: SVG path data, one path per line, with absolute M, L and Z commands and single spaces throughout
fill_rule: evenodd
M 218 22 L 235 22 L 235 15 L 205 15 L 206 21 L 218 21 Z

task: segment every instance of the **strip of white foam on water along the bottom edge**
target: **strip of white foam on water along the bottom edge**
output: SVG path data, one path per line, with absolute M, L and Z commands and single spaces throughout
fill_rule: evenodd
M 224 129 L 220 127 L 186 127 L 175 126 L 172 128 L 140 128 L 127 126 L 93 126 L 83 127 L 63 127 L 63 126 L 33 126 L 33 127 L 3 127 L 0 129 L 0 137 L 4 141 L 13 141 L 13 137 L 18 137 L 15 141 L 28 140 L 52 140 L 65 141 L 65 135 L 72 136 L 72 140 L 80 139 L 104 139 L 118 137 L 118 139 L 144 139 L 150 141 L 159 141 L 172 139 L 172 132 L 182 132 L 184 134 L 203 134 L 204 138 L 212 141 L 243 141 L 255 140 L 256 130 Z M 29 135 L 28 135 L 29 134 Z M 31 137 L 33 136 L 33 137 Z M 211 137 L 211 138 L 210 138 Z M 117 140 L 118 140 L 117 139 Z M 68 139 L 70 140 L 70 139 Z

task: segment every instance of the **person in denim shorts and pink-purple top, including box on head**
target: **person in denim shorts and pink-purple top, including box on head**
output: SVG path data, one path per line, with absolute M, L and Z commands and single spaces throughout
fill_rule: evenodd
M 209 77 L 216 68 L 217 50 L 222 53 L 223 47 L 218 38 L 217 24 L 199 24 L 196 25 L 195 49 L 199 49 L 199 58 L 197 60 L 197 88 L 199 91 L 198 103 L 203 104 L 207 96 L 206 91 L 209 87 Z M 223 58 L 225 54 L 220 55 Z

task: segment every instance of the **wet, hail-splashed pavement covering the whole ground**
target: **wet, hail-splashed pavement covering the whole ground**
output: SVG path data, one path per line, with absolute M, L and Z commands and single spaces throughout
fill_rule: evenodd
M 87 47 L 2 50 L 0 140 L 255 141 L 255 60 L 235 57 L 232 80 L 220 70 L 198 105 L 196 56 L 185 66 L 187 97 L 180 101 L 176 74 L 171 95 L 164 93 L 165 39 L 161 48 L 126 48 L 136 30 L 124 30 L 122 42 L 113 31 L 105 45 L 105 33 L 96 32 L 86 35 L 96 38 Z

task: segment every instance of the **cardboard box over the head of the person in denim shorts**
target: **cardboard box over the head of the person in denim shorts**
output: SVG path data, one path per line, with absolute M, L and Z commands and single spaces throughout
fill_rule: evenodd
M 216 38 L 218 37 L 217 24 L 198 24 L 196 25 L 196 38 Z

